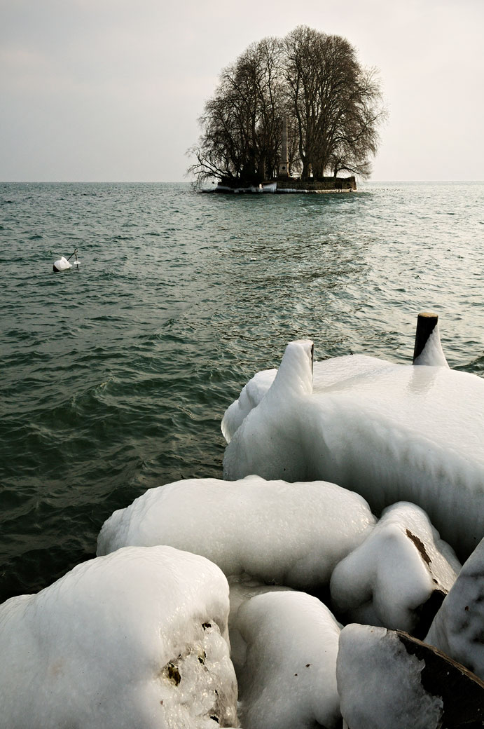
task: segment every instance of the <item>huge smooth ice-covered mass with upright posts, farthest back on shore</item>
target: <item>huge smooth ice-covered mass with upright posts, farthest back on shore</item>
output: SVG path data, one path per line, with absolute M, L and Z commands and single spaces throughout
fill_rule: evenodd
M 484 380 L 368 356 L 314 363 L 290 343 L 272 386 L 227 445 L 224 475 L 324 479 L 375 512 L 422 507 L 467 557 L 484 536 Z

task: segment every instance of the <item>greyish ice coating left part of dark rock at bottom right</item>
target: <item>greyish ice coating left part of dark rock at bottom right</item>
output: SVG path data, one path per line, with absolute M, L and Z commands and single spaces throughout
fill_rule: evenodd
M 424 666 L 386 628 L 346 625 L 340 634 L 336 674 L 348 727 L 440 728 L 442 699 L 423 689 Z

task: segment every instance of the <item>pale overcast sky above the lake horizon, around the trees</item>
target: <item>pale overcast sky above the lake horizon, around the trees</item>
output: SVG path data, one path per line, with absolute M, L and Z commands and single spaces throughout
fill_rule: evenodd
M 219 72 L 298 25 L 379 69 L 372 179 L 484 179 L 483 0 L 0 0 L 1 181 L 182 181 Z

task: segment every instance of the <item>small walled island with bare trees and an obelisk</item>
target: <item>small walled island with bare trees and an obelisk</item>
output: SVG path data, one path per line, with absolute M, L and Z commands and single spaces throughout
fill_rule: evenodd
M 376 69 L 341 36 L 298 26 L 222 70 L 187 174 L 215 192 L 353 192 L 385 117 Z

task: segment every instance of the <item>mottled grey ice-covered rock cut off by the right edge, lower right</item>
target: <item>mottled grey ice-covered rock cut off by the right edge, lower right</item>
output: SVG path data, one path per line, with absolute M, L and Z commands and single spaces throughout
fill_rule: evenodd
M 484 681 L 484 539 L 462 567 L 425 640 Z

